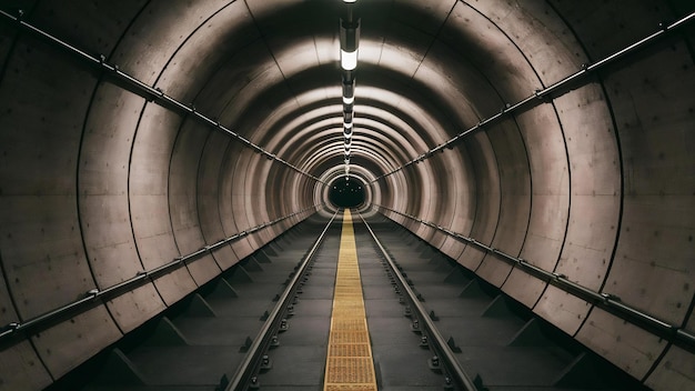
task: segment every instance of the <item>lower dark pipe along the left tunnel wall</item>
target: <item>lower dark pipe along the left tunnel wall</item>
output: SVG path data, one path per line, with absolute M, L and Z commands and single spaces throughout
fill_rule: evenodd
M 160 267 L 153 268 L 151 270 L 147 270 L 147 271 L 140 271 L 135 274 L 135 277 L 124 280 L 122 282 L 119 282 L 114 285 L 104 288 L 104 289 L 99 289 L 99 288 L 94 288 L 89 290 L 88 292 L 84 293 L 84 298 L 75 300 L 73 302 L 70 302 L 68 304 L 61 305 L 59 308 L 56 308 L 53 310 L 50 310 L 46 313 L 42 313 L 38 317 L 31 318 L 24 322 L 11 322 L 7 325 L 4 325 L 3 328 L 1 328 L 0 330 L 0 343 L 3 343 L 6 341 L 8 341 L 9 339 L 16 337 L 19 332 L 21 331 L 28 331 L 31 329 L 37 329 L 40 328 L 42 325 L 49 324 L 51 322 L 58 321 L 60 320 L 62 317 L 67 315 L 67 314 L 74 314 L 75 312 L 83 312 L 89 308 L 92 308 L 94 305 L 98 305 L 100 302 L 98 302 L 98 299 L 101 299 L 101 303 L 103 303 L 104 301 L 108 301 L 110 299 L 113 299 L 115 297 L 119 297 L 121 294 L 123 294 L 127 291 L 131 291 L 138 287 L 140 287 L 141 284 L 145 283 L 147 280 L 154 282 L 159 277 L 169 273 L 180 267 L 187 265 L 189 262 L 193 262 L 198 259 L 200 259 L 203 254 L 208 254 L 208 253 L 212 253 L 212 251 L 221 248 L 222 245 L 225 245 L 232 241 L 239 240 L 241 238 L 244 238 L 251 233 L 254 233 L 259 230 L 262 230 L 266 227 L 270 225 L 274 225 L 281 221 L 284 221 L 286 219 L 293 218 L 300 213 L 306 212 L 309 210 L 312 209 L 316 209 L 319 208 L 321 204 L 316 204 L 306 209 L 303 209 L 299 212 L 294 212 L 291 214 L 288 214 L 285 217 L 269 221 L 269 222 L 264 222 L 260 225 L 250 228 L 245 231 L 235 233 L 231 237 L 221 239 L 216 242 L 214 242 L 213 244 L 209 244 L 205 245 L 197 251 L 193 251 L 187 255 L 182 255 L 182 257 L 177 257 L 174 258 L 172 261 L 164 263 Z

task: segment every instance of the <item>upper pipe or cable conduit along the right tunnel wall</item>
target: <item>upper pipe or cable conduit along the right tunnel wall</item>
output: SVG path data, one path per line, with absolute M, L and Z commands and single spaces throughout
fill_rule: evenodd
M 413 158 L 412 160 L 407 161 L 406 163 L 403 163 L 401 167 L 397 167 L 395 169 L 393 169 L 392 171 L 389 171 L 380 177 L 376 177 L 375 179 L 372 180 L 372 183 L 375 183 L 389 176 L 392 176 L 403 169 L 405 169 L 409 166 L 412 164 L 416 164 L 420 163 L 421 161 L 431 158 L 433 154 L 435 154 L 436 152 L 443 151 L 445 148 L 451 148 L 453 147 L 454 143 L 461 141 L 464 137 L 471 136 L 477 131 L 483 130 L 484 127 L 496 122 L 501 119 L 506 118 L 507 116 L 511 116 L 513 113 L 516 113 L 517 111 L 522 111 L 527 109 L 530 106 L 537 106 L 538 103 L 545 102 L 547 99 L 552 98 L 557 98 L 561 97 L 562 94 L 576 89 L 577 86 L 575 84 L 577 81 L 580 81 L 583 77 L 588 76 L 592 72 L 596 72 L 600 71 L 604 68 L 606 68 L 607 66 L 616 62 L 617 60 L 621 60 L 623 58 L 625 58 L 626 56 L 642 49 L 643 47 L 652 43 L 653 41 L 655 41 L 656 39 L 661 38 L 662 36 L 665 36 L 668 32 L 672 32 L 673 30 L 676 30 L 685 24 L 687 24 L 688 22 L 692 22 L 693 20 L 695 20 L 695 12 L 681 18 L 678 20 L 676 20 L 675 22 L 671 23 L 671 24 L 666 24 L 666 23 L 659 23 L 659 30 L 638 40 L 635 43 L 632 43 L 594 63 L 584 63 L 582 66 L 582 68 L 566 76 L 565 78 L 561 79 L 560 81 L 554 82 L 553 84 L 546 87 L 546 88 L 541 88 L 537 89 L 535 91 L 533 91 L 533 93 L 531 96 L 528 96 L 527 98 L 524 98 L 522 100 L 520 100 L 518 102 L 514 103 L 514 104 L 510 104 L 506 103 L 502 110 L 500 110 L 498 113 L 488 117 L 486 119 L 481 120 L 480 122 L 477 122 L 476 124 L 474 124 L 473 127 L 464 130 L 463 132 L 460 132 L 459 134 L 454 136 L 452 139 L 450 139 L 449 141 L 444 142 L 443 144 L 440 144 L 426 152 L 424 152 L 423 154 Z M 587 84 L 588 82 L 585 82 L 582 86 Z

